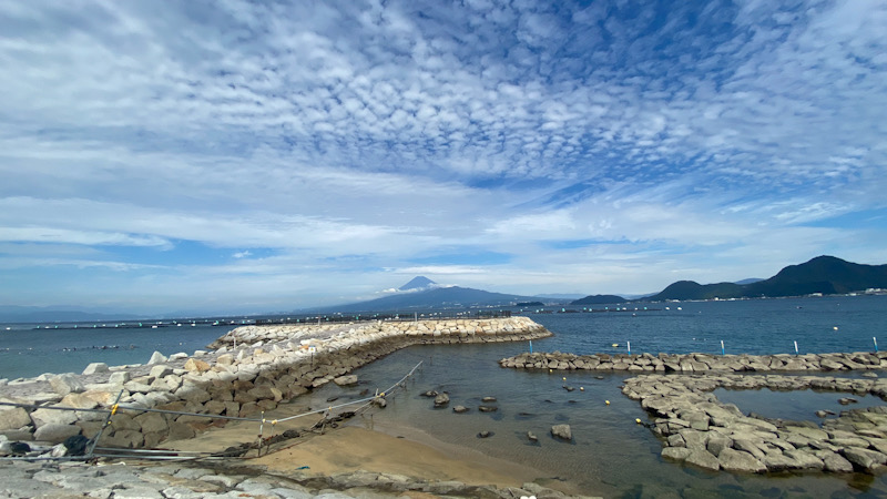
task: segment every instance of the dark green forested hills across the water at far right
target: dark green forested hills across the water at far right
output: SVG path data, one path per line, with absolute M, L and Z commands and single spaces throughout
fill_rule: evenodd
M 751 282 L 748 282 L 751 281 Z M 713 299 L 835 295 L 887 288 L 887 265 L 863 265 L 834 256 L 817 256 L 799 265 L 789 265 L 768 279 L 746 279 L 747 284 L 699 284 L 679 281 L 646 299 Z

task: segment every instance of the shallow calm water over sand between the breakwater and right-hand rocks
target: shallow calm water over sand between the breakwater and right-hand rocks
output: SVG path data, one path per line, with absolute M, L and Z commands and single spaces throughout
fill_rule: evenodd
M 544 471 L 589 495 L 604 497 L 870 497 L 887 496 L 884 477 L 827 475 L 763 477 L 711 473 L 660 458 L 661 442 L 635 418 L 651 419 L 640 404 L 624 397 L 624 374 L 569 374 L 500 368 L 496 361 L 519 353 L 522 345 L 458 345 L 410 347 L 358 369 L 363 386 L 384 385 L 424 360 L 406 394 L 399 394 L 374 419 L 387 426 L 419 428 L 434 438 L 512 460 Z M 396 375 L 399 373 L 399 376 Z M 598 377 L 602 379 L 599 379 Z M 563 377 L 568 386 L 562 388 Z M 580 391 L 579 387 L 584 390 Z M 450 404 L 435 409 L 422 391 L 446 390 Z M 497 413 L 479 413 L 480 398 L 497 397 Z M 573 400 L 573 403 L 571 403 Z M 610 405 L 605 404 L 610 400 Z M 455 405 L 471 411 L 458 415 Z M 743 410 L 746 410 L 740 406 Z M 573 442 L 550 437 L 552 425 L 567 422 Z M 364 422 L 365 424 L 365 422 Z M 480 439 L 489 430 L 493 436 Z M 538 444 L 527 431 L 539 437 Z M 530 477 L 528 477 L 529 479 Z M 857 488 L 861 490 L 857 490 Z M 677 491 L 680 495 L 675 496 Z M 853 492 L 853 493 L 852 493 Z

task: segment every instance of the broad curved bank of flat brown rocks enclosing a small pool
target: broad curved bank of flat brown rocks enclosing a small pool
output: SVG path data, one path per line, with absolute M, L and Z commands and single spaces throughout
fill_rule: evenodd
M 875 472 L 887 465 L 887 406 L 844 411 L 822 427 L 745 416 L 715 388 L 834 389 L 887 395 L 887 380 L 820 376 L 642 375 L 622 393 L 655 414 L 662 456 L 712 470 Z

